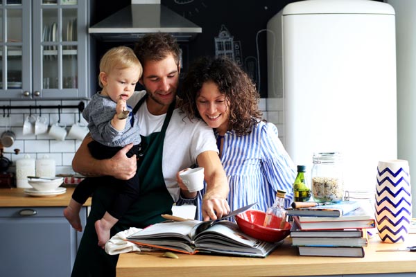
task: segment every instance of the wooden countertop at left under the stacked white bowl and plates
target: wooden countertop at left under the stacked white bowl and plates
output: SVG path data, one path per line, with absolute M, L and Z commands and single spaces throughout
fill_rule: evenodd
M 33 197 L 24 193 L 24 188 L 0 188 L 0 208 L 3 207 L 57 207 L 67 206 L 74 188 L 53 197 Z M 91 198 L 85 202 L 91 206 Z

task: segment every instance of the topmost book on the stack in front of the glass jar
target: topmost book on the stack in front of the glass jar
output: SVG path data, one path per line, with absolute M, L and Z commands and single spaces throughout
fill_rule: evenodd
M 340 217 L 361 206 L 357 201 L 341 201 L 338 203 L 318 204 L 308 208 L 288 208 L 288 215 L 313 217 Z

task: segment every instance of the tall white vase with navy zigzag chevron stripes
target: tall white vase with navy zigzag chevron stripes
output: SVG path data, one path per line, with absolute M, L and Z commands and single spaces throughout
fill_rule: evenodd
M 383 242 L 404 242 L 410 229 L 412 194 L 408 161 L 379 161 L 376 226 Z

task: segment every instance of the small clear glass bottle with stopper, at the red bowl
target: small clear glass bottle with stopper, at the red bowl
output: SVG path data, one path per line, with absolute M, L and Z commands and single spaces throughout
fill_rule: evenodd
M 273 229 L 283 229 L 286 223 L 286 209 L 284 208 L 284 197 L 286 191 L 277 190 L 275 203 L 269 207 L 264 217 L 263 226 Z

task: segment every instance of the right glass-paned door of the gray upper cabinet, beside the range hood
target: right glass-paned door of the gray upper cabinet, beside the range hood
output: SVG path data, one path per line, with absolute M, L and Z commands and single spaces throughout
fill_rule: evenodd
M 78 85 L 87 68 L 86 36 L 78 38 L 79 26 L 86 26 L 83 11 L 87 1 L 35 0 L 33 22 L 37 37 L 33 39 L 34 98 L 77 98 L 83 90 Z M 39 6 L 37 6 L 39 5 Z M 86 33 L 86 32 L 84 32 Z

